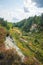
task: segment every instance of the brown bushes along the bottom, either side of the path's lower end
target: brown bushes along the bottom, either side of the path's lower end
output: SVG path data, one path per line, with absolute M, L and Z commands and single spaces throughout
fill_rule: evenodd
M 0 53 L 0 65 L 39 65 L 39 63 L 30 58 L 26 57 L 24 61 L 21 61 L 19 55 L 14 53 L 14 49 L 9 49 Z

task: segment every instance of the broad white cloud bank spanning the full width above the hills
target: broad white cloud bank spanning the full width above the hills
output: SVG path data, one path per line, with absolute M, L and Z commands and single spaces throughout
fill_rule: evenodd
M 24 18 L 28 18 L 29 16 L 43 13 L 43 8 L 37 8 L 35 6 L 36 3 L 33 3 L 31 0 L 23 0 L 23 2 L 24 6 L 22 8 L 19 6 L 15 8 L 3 9 L 3 7 L 0 5 L 0 17 L 3 17 L 8 21 L 12 21 L 13 18 L 19 21 Z M 28 9 L 29 12 L 25 12 L 24 7 Z

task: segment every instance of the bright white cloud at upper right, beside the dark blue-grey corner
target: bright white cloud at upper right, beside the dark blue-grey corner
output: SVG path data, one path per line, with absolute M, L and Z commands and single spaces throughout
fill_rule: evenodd
M 43 12 L 43 8 L 37 8 L 35 4 L 36 3 L 33 3 L 32 0 L 24 0 L 24 6 L 30 11 L 29 13 L 38 15 Z

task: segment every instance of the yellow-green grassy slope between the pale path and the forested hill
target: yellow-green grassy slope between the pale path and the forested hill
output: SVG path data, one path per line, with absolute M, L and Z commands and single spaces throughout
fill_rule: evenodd
M 28 35 L 25 36 L 22 35 L 22 32 L 18 28 L 14 28 L 10 30 L 10 34 L 25 56 L 35 57 L 36 55 L 38 57 L 36 54 L 37 52 L 40 52 L 40 54 L 43 55 L 43 32 L 32 34 L 28 33 Z M 20 38 L 27 42 L 20 40 Z

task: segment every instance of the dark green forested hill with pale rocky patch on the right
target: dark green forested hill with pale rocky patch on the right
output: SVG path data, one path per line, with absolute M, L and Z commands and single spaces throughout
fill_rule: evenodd
M 40 16 L 29 17 L 18 23 L 13 24 L 14 27 L 19 27 L 22 31 L 43 31 L 43 14 Z

